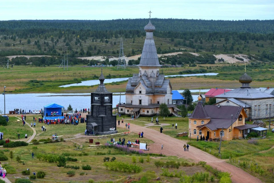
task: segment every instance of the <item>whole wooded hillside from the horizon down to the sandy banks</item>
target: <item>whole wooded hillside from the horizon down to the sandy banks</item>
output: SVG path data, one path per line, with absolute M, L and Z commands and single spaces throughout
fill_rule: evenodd
M 274 20 L 152 19 L 151 21 L 156 27 L 154 38 L 158 54 L 184 50 L 206 52 L 211 55 L 209 61 L 191 57 L 190 63 L 195 61 L 213 63 L 213 54 L 219 53 L 252 54 L 261 61 L 274 61 L 272 43 Z M 121 37 L 124 40 L 125 56 L 130 57 L 142 53 L 146 35 L 144 26 L 147 23 L 148 19 L 0 21 L 0 57 L 10 55 L 62 57 L 67 53 L 70 58 L 96 55 L 118 57 Z M 177 63 L 172 60 L 173 62 L 168 61 L 168 63 Z M 182 58 L 178 63 L 181 61 L 185 63 Z M 47 63 L 58 62 L 49 60 Z M 77 61 L 74 59 L 72 62 Z M 16 63 L 24 64 L 25 61 Z M 45 62 L 27 63 L 43 65 Z

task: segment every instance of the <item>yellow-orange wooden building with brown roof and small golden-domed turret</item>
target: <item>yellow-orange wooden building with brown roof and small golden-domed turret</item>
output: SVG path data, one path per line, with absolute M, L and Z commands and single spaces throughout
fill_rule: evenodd
M 189 135 L 200 140 L 206 136 L 209 140 L 232 140 L 243 137 L 244 130 L 249 131 L 256 125 L 245 124 L 247 115 L 242 106 L 206 105 L 198 97 L 198 104 L 189 117 Z M 223 129 L 223 130 L 222 130 Z

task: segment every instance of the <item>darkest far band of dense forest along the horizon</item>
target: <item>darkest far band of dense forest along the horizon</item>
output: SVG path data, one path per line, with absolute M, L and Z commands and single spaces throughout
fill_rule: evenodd
M 157 31 L 176 32 L 249 32 L 273 33 L 274 20 L 195 20 L 195 19 L 151 19 Z M 115 20 L 10 20 L 0 21 L 1 32 L 28 29 L 43 34 L 43 30 L 144 30 L 148 19 Z M 9 33 L 10 34 L 10 33 Z

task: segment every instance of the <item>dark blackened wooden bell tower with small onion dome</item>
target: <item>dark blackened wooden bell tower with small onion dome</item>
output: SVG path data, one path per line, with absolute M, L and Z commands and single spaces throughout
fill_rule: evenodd
M 86 129 L 90 134 L 116 134 L 116 115 L 112 114 L 112 93 L 104 85 L 104 75 L 101 70 L 100 85 L 91 93 L 90 114 L 86 115 Z

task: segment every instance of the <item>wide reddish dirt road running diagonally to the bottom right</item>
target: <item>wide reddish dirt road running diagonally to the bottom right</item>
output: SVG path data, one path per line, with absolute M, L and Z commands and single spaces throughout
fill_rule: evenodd
M 130 120 L 128 120 L 130 121 Z M 160 133 L 159 131 L 155 131 L 150 128 L 146 128 L 145 126 L 138 126 L 134 124 L 130 124 L 130 131 L 139 133 L 144 132 L 144 137 L 153 140 L 155 143 L 153 146 L 149 146 L 150 150 L 153 153 L 162 153 L 167 156 L 178 156 L 186 159 L 192 159 L 195 162 L 205 161 L 207 164 L 212 166 L 213 168 L 217 168 L 223 172 L 231 173 L 231 180 L 234 183 L 261 183 L 262 181 L 247 172 L 243 171 L 240 168 L 237 168 L 231 164 L 226 163 L 224 160 L 218 159 L 215 156 L 212 156 L 200 149 L 194 148 L 190 146 L 189 151 L 184 151 L 183 146 L 186 142 L 182 140 L 178 140 L 176 138 L 172 138 L 168 135 Z M 161 150 L 161 145 L 164 145 L 163 150 Z

